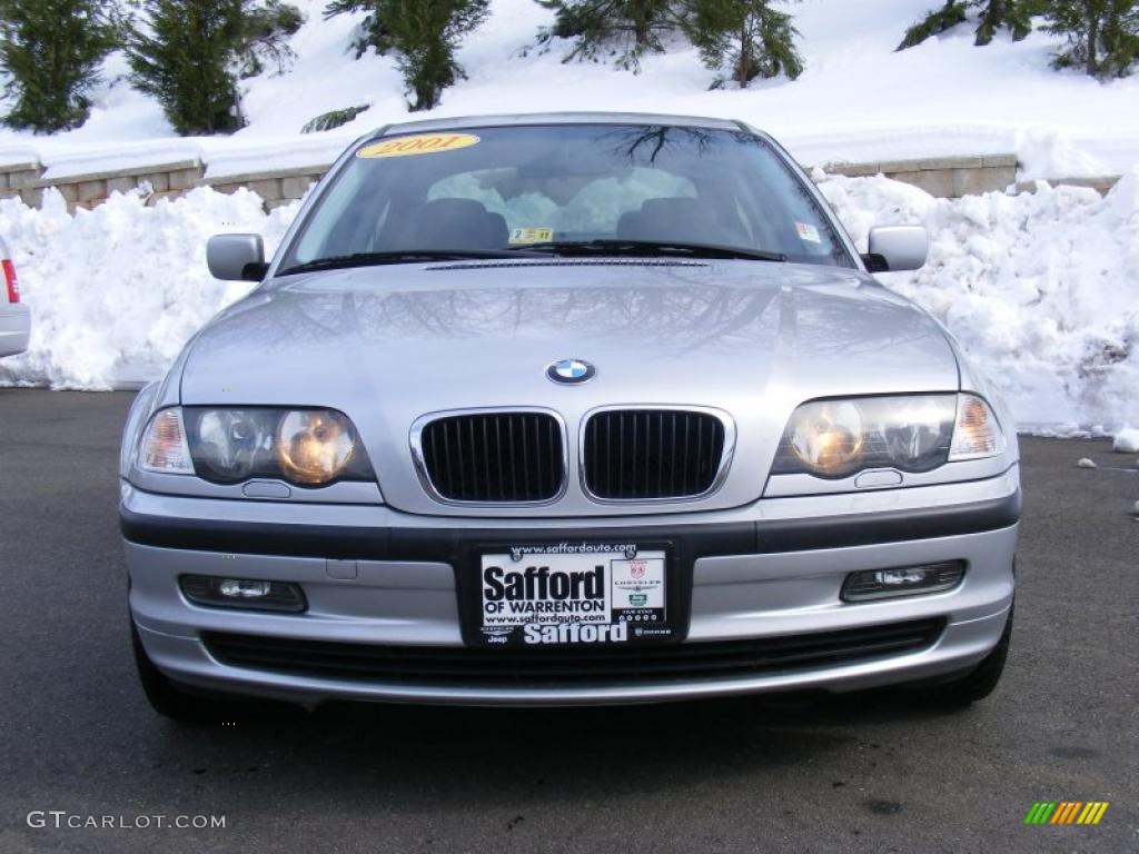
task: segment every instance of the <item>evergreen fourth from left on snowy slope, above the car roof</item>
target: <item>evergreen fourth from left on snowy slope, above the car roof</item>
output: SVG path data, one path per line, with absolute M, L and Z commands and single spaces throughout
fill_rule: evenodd
M 638 72 L 646 54 L 664 51 L 680 26 L 682 0 L 536 0 L 557 11 L 554 26 L 539 31 L 538 43 L 573 40 L 564 61 L 597 61 L 603 54 L 618 67 Z

